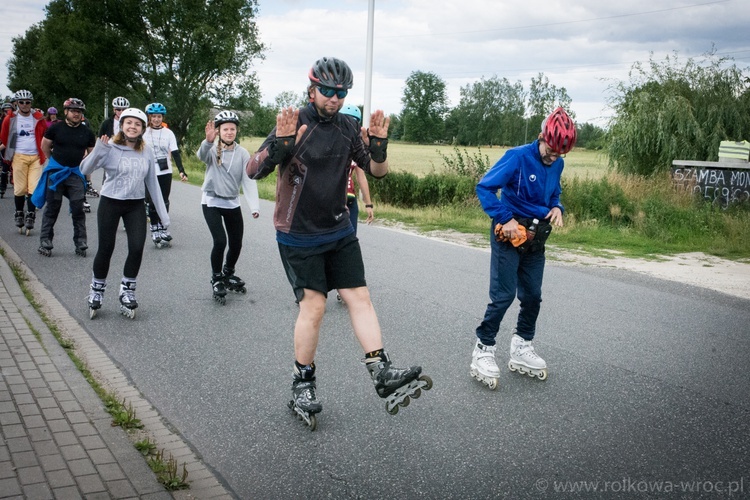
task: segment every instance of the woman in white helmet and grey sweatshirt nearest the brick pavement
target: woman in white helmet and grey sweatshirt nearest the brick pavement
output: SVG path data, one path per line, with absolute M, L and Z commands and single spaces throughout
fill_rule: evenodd
M 154 206 L 162 223 L 165 227 L 169 226 L 169 214 L 156 179 L 156 159 L 143 140 L 146 115 L 140 109 L 128 108 L 122 112 L 120 120 L 120 131 L 115 137 L 110 140 L 102 135 L 94 150 L 81 163 L 81 172 L 85 175 L 99 168 L 106 174 L 96 213 L 99 248 L 94 257 L 88 299 L 92 318 L 102 306 L 120 219 L 125 223 L 128 240 L 128 256 L 120 284 L 120 311 L 130 318 L 135 316 L 138 307 L 135 299 L 136 278 L 146 243 L 146 188 L 154 193 Z

